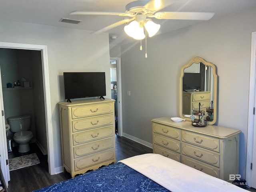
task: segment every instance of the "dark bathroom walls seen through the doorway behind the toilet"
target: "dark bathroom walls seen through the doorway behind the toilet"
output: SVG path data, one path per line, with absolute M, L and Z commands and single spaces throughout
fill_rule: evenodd
M 4 100 L 5 123 L 14 116 L 30 116 L 30 131 L 42 154 L 47 155 L 47 135 L 42 76 L 42 58 L 40 50 L 0 48 L 0 68 Z M 6 130 L 8 157 L 26 155 L 17 153 L 13 132 Z

